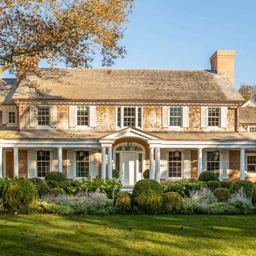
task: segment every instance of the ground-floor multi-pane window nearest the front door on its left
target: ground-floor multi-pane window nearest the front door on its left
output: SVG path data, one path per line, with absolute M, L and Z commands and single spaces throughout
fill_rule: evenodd
M 89 175 L 89 151 L 76 151 L 76 177 L 87 177 Z

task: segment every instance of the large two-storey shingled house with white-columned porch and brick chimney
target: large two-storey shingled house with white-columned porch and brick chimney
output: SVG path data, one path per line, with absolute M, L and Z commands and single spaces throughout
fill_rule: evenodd
M 0 175 L 256 180 L 256 105 L 234 87 L 235 51 L 218 50 L 211 70 L 40 69 L 0 79 Z

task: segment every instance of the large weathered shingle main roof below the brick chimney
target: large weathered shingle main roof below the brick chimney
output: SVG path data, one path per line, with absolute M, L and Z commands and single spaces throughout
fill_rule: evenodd
M 40 69 L 47 99 L 244 100 L 225 75 L 209 70 Z M 14 99 L 28 99 L 23 81 Z M 39 98 L 38 96 L 34 96 Z

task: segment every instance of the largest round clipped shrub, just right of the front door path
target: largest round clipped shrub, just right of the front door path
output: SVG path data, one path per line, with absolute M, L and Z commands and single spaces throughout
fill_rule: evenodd
M 139 180 L 132 192 L 132 204 L 141 214 L 158 214 L 162 207 L 163 190 L 156 180 Z

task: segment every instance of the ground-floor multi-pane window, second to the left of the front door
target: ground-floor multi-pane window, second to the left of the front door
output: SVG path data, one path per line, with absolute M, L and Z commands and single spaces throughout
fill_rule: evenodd
M 37 176 L 45 177 L 51 171 L 50 151 L 38 150 L 37 151 Z

